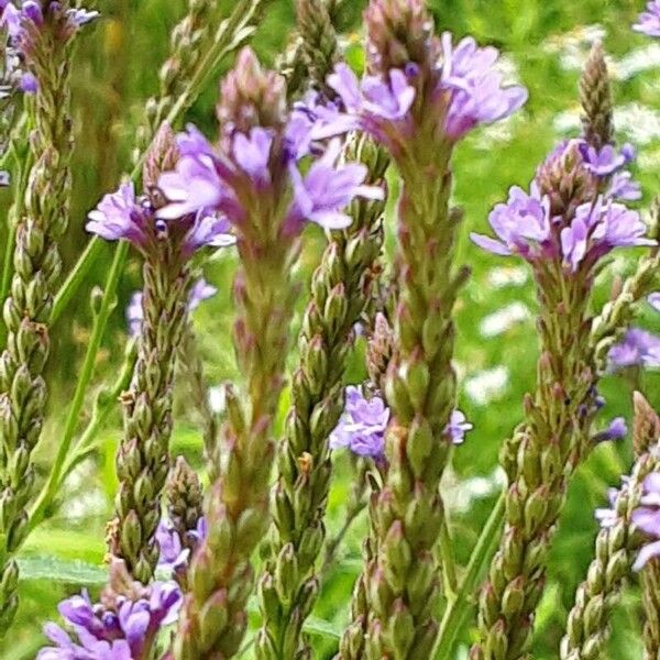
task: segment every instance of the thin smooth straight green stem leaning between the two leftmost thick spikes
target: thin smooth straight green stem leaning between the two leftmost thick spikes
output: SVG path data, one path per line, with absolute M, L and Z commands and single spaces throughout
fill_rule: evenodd
M 78 377 L 78 383 L 76 384 L 76 391 L 74 392 L 72 405 L 69 406 L 66 416 L 62 441 L 57 447 L 57 454 L 55 455 L 55 461 L 51 468 L 48 481 L 32 507 L 32 515 L 30 516 L 31 530 L 43 520 L 47 505 L 53 502 L 57 494 L 65 460 L 74 440 L 76 427 L 78 426 L 78 416 L 80 414 L 80 409 L 82 408 L 82 404 L 85 403 L 87 385 L 89 384 L 94 373 L 97 352 L 101 345 L 101 340 L 106 330 L 106 323 L 110 317 L 110 312 L 114 307 L 114 289 L 117 288 L 117 284 L 121 277 L 121 274 L 123 273 L 123 264 L 127 258 L 128 251 L 129 243 L 122 241 L 114 253 L 112 266 L 110 267 L 110 273 L 108 275 L 108 282 L 106 283 L 106 292 L 101 299 L 99 311 L 94 320 L 91 337 L 89 338 L 89 343 L 87 344 L 87 352 L 85 354 L 85 361 L 82 362 L 82 369 Z

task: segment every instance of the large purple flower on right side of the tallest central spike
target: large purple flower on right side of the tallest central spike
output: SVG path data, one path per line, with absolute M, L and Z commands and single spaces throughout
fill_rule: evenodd
M 452 35 L 444 32 L 442 54 L 440 89 L 451 95 L 446 121 L 451 140 L 512 116 L 527 101 L 525 87 L 503 87 L 502 74 L 493 68 L 499 56 L 496 48 L 480 48 L 470 36 L 454 47 Z

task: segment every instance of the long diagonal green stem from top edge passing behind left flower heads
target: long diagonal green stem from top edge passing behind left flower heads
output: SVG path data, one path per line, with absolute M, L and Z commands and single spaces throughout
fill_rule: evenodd
M 261 0 L 242 0 L 238 3 L 229 19 L 223 21 L 220 32 L 206 55 L 200 59 L 195 74 L 190 78 L 188 87 L 184 90 L 165 119 L 166 123 L 174 124 L 176 122 L 204 87 L 208 77 L 217 70 L 220 62 L 250 36 L 252 32 L 250 29 L 250 21 L 254 16 L 260 4 Z M 131 172 L 131 179 L 135 180 L 140 176 L 142 164 L 147 152 L 148 148 L 140 155 L 140 158 Z M 51 312 L 51 324 L 57 321 L 80 285 L 87 279 L 87 274 L 94 265 L 95 260 L 98 257 L 102 244 L 103 241 L 98 237 L 94 237 L 87 244 L 85 252 L 82 252 L 55 296 L 53 311 Z M 124 262 L 125 255 L 121 266 L 123 266 Z M 113 296 L 114 290 L 110 290 L 108 284 L 109 283 L 106 284 L 106 295 Z

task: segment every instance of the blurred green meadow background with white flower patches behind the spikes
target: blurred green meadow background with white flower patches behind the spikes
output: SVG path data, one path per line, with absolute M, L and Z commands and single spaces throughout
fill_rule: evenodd
M 578 130 L 579 67 L 596 38 L 604 41 L 612 57 L 618 138 L 639 148 L 636 175 L 645 193 L 640 208 L 646 209 L 660 180 L 660 42 L 629 29 L 642 9 L 641 0 L 432 0 L 430 4 L 439 30 L 451 30 L 458 35 L 471 33 L 482 43 L 501 47 L 507 76 L 521 80 L 530 90 L 529 103 L 522 112 L 470 136 L 460 146 L 454 164 L 455 200 L 465 208 L 459 261 L 469 263 L 473 270 L 458 310 L 457 369 L 461 383 L 460 405 L 475 429 L 454 453 L 443 488 L 457 539 L 455 552 L 464 565 L 499 488 L 498 448 L 520 419 L 522 395 L 534 385 L 537 354 L 536 302 L 527 268 L 515 260 L 484 254 L 469 242 L 468 233 L 473 229 L 485 230 L 488 209 L 506 197 L 508 187 L 526 185 L 552 144 Z M 157 89 L 156 73 L 168 52 L 169 31 L 185 11 L 184 0 L 101 0 L 98 6 L 102 19 L 81 36 L 74 67 L 78 142 L 73 223 L 64 244 L 69 264 L 87 241 L 82 230 L 86 212 L 102 193 L 114 188 L 121 173 L 130 168 L 133 134 L 143 103 Z M 345 45 L 352 59 L 359 63 L 359 16 L 363 2 L 350 0 L 349 6 L 351 10 L 354 7 L 354 21 L 348 26 Z M 272 0 L 254 40 L 264 61 L 274 61 L 293 23 L 293 0 Z M 187 117 L 207 134 L 213 131 L 216 94 L 217 86 L 209 86 Z M 394 179 L 393 184 L 396 190 Z M 7 207 L 9 194 L 1 195 L 4 197 L 0 202 Z M 392 218 L 387 227 L 392 233 Z M 310 229 L 308 237 L 301 278 L 310 276 L 322 249 L 319 231 Z M 1 244 L 4 239 L 3 226 Z M 392 243 L 391 240 L 389 249 Z M 78 293 L 75 304 L 55 328 L 50 367 L 51 416 L 37 452 L 41 473 L 46 472 L 54 455 L 63 410 L 84 355 L 89 333 L 89 292 L 95 284 L 102 283 L 111 254 L 112 248 L 105 248 L 85 289 Z M 206 264 L 205 275 L 218 286 L 219 294 L 196 312 L 196 328 L 211 385 L 237 376 L 230 342 L 233 258 L 231 253 L 224 253 Z M 635 260 L 634 252 L 613 258 L 598 279 L 598 304 L 606 300 L 613 277 L 630 272 Z M 133 261 L 122 278 L 120 301 L 99 353 L 97 388 L 117 373 L 125 342 L 123 308 L 139 284 L 139 263 Z M 294 329 L 297 322 L 294 321 Z M 660 315 L 653 317 L 650 309 L 645 310 L 640 322 L 660 330 Z M 292 355 L 290 365 L 294 364 L 295 355 Z M 358 382 L 363 375 L 358 345 L 349 380 Z M 656 407 L 660 407 L 659 384 L 657 374 L 638 372 L 606 378 L 603 393 L 607 406 L 602 425 L 606 426 L 615 415 L 629 416 L 630 393 L 635 387 L 642 387 Z M 184 404 L 186 393 L 179 391 L 178 394 L 182 400 L 174 452 L 185 453 L 199 465 L 200 436 Z M 285 407 L 283 405 L 283 416 Z M 68 480 L 63 493 L 65 505 L 28 541 L 21 556 L 24 566 L 21 607 L 4 646 L 0 646 L 0 658 L 34 658 L 36 649 L 44 644 L 43 623 L 57 617 L 58 600 L 79 591 L 81 584 L 94 593 L 98 591 L 102 580 L 105 524 L 116 487 L 113 453 L 119 436 L 116 415 L 99 437 L 98 451 Z M 547 593 L 538 612 L 536 658 L 558 657 L 565 614 L 590 561 L 596 532 L 593 509 L 604 504 L 606 487 L 617 484 L 619 474 L 628 469 L 630 454 L 629 441 L 600 446 L 571 486 L 552 552 Z M 330 497 L 331 531 L 343 520 L 351 479 L 346 457 L 338 455 Z M 360 518 L 349 532 L 339 560 L 326 576 L 311 632 L 318 658 L 332 657 L 337 634 L 346 622 L 364 532 L 365 521 Z M 625 606 L 617 609 L 615 616 L 610 658 L 640 657 L 639 623 L 640 606 L 632 586 L 626 593 Z M 471 628 L 461 631 L 463 646 L 457 658 L 466 658 L 472 635 Z M 245 657 L 250 656 L 248 650 Z

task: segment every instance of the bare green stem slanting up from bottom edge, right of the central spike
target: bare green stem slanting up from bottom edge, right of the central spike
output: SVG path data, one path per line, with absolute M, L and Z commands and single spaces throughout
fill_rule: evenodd
M 436 648 L 431 656 L 435 660 L 449 660 L 451 658 L 457 636 L 461 631 L 465 618 L 470 613 L 473 594 L 482 580 L 484 569 L 499 540 L 497 530 L 502 528 L 504 521 L 504 502 L 505 496 L 502 493 L 470 557 L 465 575 L 457 592 L 457 597 L 444 610 L 444 616 L 440 624 L 440 634 L 438 635 Z

